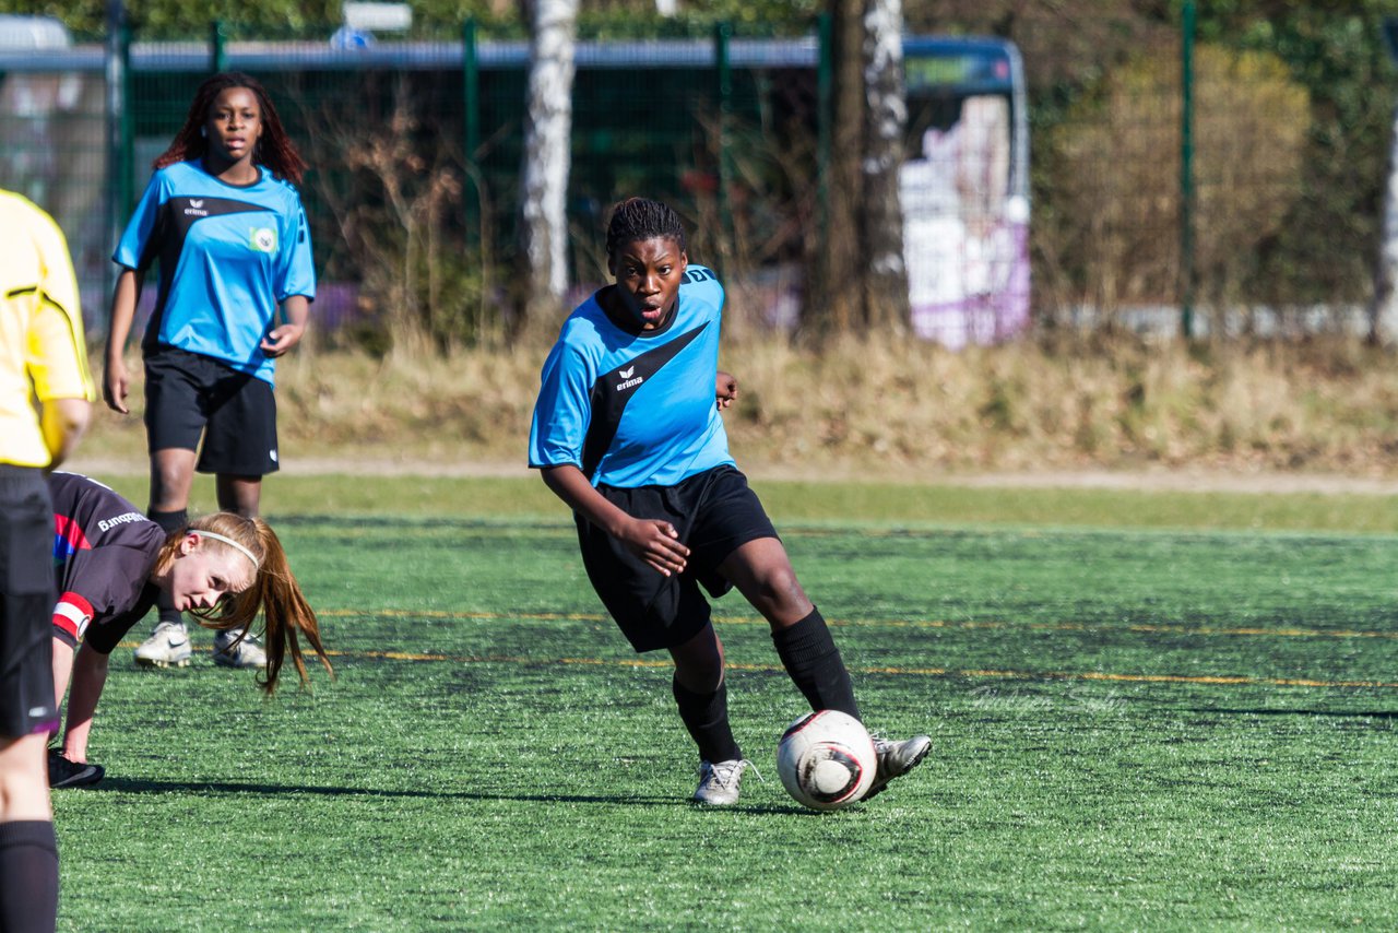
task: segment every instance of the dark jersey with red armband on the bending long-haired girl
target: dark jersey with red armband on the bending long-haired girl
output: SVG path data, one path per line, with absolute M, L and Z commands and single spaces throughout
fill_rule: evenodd
M 49 477 L 53 497 L 55 634 L 77 643 L 89 625 L 124 634 L 155 603 L 150 582 L 165 532 L 96 480 Z M 113 641 L 115 645 L 115 641 Z

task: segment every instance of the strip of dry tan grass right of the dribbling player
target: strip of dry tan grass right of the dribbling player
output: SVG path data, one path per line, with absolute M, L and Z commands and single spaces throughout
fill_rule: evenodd
M 847 340 L 819 357 L 749 346 L 728 364 L 747 390 L 734 446 L 772 463 L 1398 470 L 1398 378 L 1355 344 L 948 352 Z

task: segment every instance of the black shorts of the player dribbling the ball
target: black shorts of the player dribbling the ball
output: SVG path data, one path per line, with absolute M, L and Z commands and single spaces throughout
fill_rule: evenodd
M 723 596 L 733 583 L 719 574 L 719 565 L 748 541 L 777 537 L 748 477 L 731 466 L 678 485 L 601 485 L 597 491 L 630 516 L 665 519 L 689 547 L 685 572 L 664 576 L 615 537 L 577 518 L 587 578 L 636 652 L 674 648 L 698 635 L 712 614 L 699 585 Z

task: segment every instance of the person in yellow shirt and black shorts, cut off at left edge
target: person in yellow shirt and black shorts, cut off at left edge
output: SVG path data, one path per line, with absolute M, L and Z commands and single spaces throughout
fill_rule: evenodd
M 45 473 L 96 397 L 67 241 L 0 190 L 0 930 L 53 930 L 59 849 L 45 746 L 59 726 L 50 618 L 53 506 Z

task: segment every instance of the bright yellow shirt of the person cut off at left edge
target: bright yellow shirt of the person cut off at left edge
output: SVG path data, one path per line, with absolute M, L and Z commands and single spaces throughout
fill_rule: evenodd
M 95 397 L 63 231 L 29 200 L 0 190 L 0 463 L 49 464 L 35 399 Z

